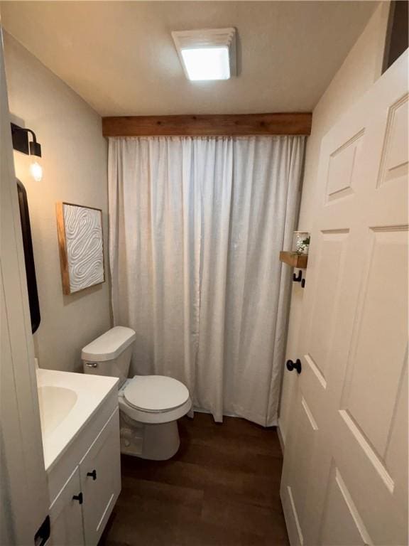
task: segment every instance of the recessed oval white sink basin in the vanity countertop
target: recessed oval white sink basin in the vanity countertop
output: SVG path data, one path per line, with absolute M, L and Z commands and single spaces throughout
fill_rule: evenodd
M 38 388 L 41 429 L 50 434 L 67 417 L 77 402 L 77 393 L 65 387 L 54 385 Z

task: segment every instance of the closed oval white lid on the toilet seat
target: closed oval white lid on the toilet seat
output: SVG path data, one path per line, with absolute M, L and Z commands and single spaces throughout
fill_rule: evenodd
M 124 397 L 138 410 L 163 412 L 185 404 L 189 391 L 180 381 L 164 375 L 138 375 L 126 385 Z

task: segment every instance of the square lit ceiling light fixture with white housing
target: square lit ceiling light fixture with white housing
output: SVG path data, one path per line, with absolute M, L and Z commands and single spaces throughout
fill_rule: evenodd
M 188 80 L 229 80 L 236 75 L 236 29 L 172 33 Z

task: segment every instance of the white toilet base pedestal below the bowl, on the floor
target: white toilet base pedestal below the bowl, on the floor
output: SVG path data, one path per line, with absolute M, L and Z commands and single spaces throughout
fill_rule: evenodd
M 134 421 L 124 412 L 119 412 L 119 417 L 121 453 L 151 461 L 166 461 L 178 452 L 180 446 L 178 421 L 141 423 Z

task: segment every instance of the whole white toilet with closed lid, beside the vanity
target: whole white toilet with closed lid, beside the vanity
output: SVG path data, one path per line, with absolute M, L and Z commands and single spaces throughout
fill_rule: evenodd
M 179 449 L 178 419 L 192 407 L 189 391 L 163 375 L 128 379 L 131 328 L 115 326 L 82 349 L 84 373 L 119 378 L 121 452 L 142 459 L 165 461 Z

